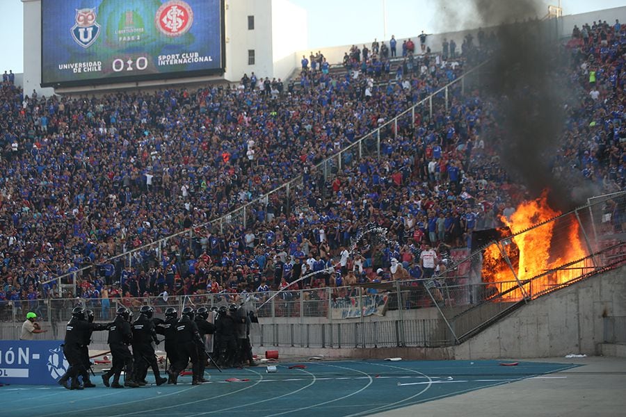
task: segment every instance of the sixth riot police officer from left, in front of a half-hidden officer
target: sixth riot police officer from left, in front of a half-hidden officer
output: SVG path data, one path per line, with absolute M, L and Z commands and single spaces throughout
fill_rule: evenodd
M 179 373 L 187 367 L 191 360 L 193 379 L 191 384 L 198 385 L 200 381 L 200 361 L 198 359 L 198 345 L 202 343 L 198 326 L 195 325 L 194 313 L 191 307 L 185 307 L 182 316 L 176 323 L 176 341 L 178 360 L 170 370 L 172 384 L 177 384 Z

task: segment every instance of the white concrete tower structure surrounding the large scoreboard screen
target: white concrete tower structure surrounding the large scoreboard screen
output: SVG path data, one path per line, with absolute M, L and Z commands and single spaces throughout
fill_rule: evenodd
M 40 95 L 51 95 L 53 88 L 42 88 L 41 83 L 41 0 L 22 0 L 24 3 L 24 91 L 36 90 Z M 254 28 L 248 29 L 248 17 L 254 19 Z M 111 85 L 83 86 L 56 89 L 56 92 L 95 92 L 98 90 L 150 87 L 173 83 L 202 81 L 239 81 L 244 73 L 270 79 L 284 79 L 299 62 L 295 51 L 307 45 L 307 15 L 287 0 L 227 0 L 225 2 L 225 54 L 223 76 L 202 76 L 187 79 L 163 79 Z M 255 63 L 248 64 L 248 51 L 253 50 Z

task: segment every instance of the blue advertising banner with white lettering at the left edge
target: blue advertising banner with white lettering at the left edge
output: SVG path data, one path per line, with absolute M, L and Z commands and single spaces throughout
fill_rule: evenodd
M 63 341 L 0 341 L 0 383 L 53 385 L 70 366 Z

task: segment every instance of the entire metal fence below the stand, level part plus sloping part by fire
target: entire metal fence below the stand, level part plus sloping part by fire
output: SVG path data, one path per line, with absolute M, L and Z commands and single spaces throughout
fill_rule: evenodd
M 614 195 L 620 205 L 626 193 Z M 443 347 L 462 343 L 506 313 L 532 300 L 569 286 L 581 279 L 619 268 L 626 264 L 626 242 L 607 246 L 607 236 L 622 236 L 622 224 L 603 229 L 597 239 L 588 237 L 594 224 L 593 205 L 577 208 L 549 221 L 486 245 L 471 256 L 457 260 L 451 268 L 431 279 L 392 281 L 381 287 L 357 286 L 324 287 L 275 293 L 208 293 L 179 297 L 127 297 L 100 299 L 49 299 L 3 302 L 0 304 L 0 337 L 19 337 L 26 312 L 33 311 L 51 332 L 38 338 L 62 338 L 64 323 L 72 308 L 81 304 L 95 312 L 97 321 L 113 319 L 114 311 L 125 305 L 137 311 L 143 305 L 154 306 L 161 316 L 168 306 L 182 310 L 184 306 L 220 306 L 230 303 L 253 302 L 257 308 L 259 326 L 253 332 L 252 343 L 257 346 L 283 347 L 385 347 L 418 346 Z M 620 214 L 621 218 L 621 214 Z M 601 217 L 605 219 L 605 217 Z M 586 245 L 584 256 L 554 263 L 548 259 L 538 273 L 528 275 L 522 261 L 515 259 L 509 247 L 520 245 L 527 234 L 552 231 L 550 241 L 556 247 L 575 247 L 572 228 L 577 240 Z M 599 229 L 599 228 L 597 228 Z M 587 237 L 584 237 L 587 236 Z M 485 261 L 489 248 L 496 245 L 503 255 L 498 279 L 493 279 L 492 265 Z M 508 254 L 509 257 L 504 256 Z M 533 254 L 536 255 L 536 254 Z M 504 265 L 504 268 L 502 268 Z M 514 265 L 517 265 L 515 268 Z M 490 269 L 491 268 L 491 269 Z M 508 270 L 507 270 L 508 268 Z M 491 275 L 490 275 L 491 274 Z M 366 288 L 367 287 L 367 288 Z M 382 297 L 385 305 L 376 313 L 366 314 L 364 299 Z M 344 303 L 338 300 L 345 300 Z M 343 305 L 343 306 L 342 306 Z M 343 317 L 345 307 L 351 309 L 351 318 Z M 433 309 L 438 313 L 433 314 Z M 622 322 L 605 321 L 605 340 L 621 341 Z M 611 330 L 613 329 L 613 330 Z M 95 343 L 104 343 L 106 334 L 96 334 Z

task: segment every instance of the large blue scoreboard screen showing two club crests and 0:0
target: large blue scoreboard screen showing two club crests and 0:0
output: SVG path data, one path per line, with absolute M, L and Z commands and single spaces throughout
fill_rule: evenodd
M 223 74 L 224 0 L 42 0 L 42 87 Z

